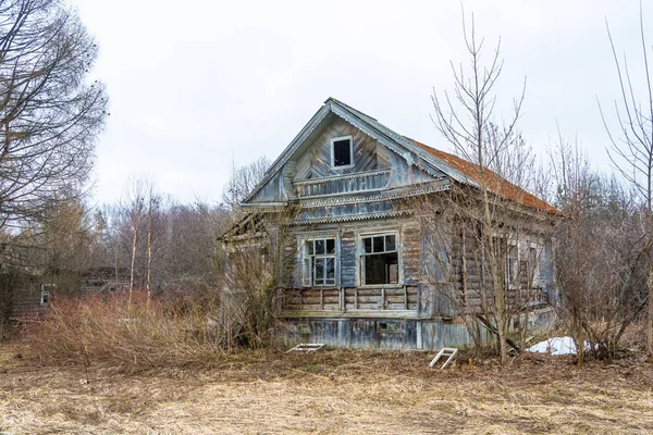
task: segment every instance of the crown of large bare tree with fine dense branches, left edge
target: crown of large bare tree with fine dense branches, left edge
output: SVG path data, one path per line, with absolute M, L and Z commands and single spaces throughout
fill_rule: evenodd
M 0 228 L 78 195 L 106 117 L 97 46 L 60 0 L 0 1 Z

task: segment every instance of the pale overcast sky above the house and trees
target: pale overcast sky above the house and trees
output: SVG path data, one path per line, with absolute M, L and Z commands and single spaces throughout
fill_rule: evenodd
M 232 160 L 275 159 L 330 96 L 449 149 L 430 96 L 452 88 L 449 61 L 468 60 L 457 0 L 70 2 L 100 46 L 91 78 L 110 98 L 96 202 L 118 200 L 138 175 L 178 200 L 218 202 Z M 612 116 L 618 87 L 605 20 L 640 73 L 639 2 L 479 0 L 465 10 L 488 49 L 502 38 L 502 111 L 527 77 L 521 129 L 537 152 L 557 121 L 608 170 L 596 100 Z M 653 44 L 653 4 L 646 18 Z

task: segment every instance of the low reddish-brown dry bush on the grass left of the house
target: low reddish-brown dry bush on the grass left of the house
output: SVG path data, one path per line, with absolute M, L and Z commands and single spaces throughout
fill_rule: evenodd
M 224 341 L 200 304 L 147 300 L 138 293 L 131 303 L 126 296 L 57 300 L 26 334 L 45 362 L 106 362 L 130 373 L 210 366 Z

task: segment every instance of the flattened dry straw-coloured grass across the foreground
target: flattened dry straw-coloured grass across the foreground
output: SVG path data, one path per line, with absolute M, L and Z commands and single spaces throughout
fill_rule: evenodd
M 2 347 L 0 347 L 2 349 Z M 40 366 L 4 348 L 0 427 L 14 434 L 650 433 L 653 364 L 519 356 L 508 368 L 430 355 L 329 350 L 223 355 L 148 375 Z

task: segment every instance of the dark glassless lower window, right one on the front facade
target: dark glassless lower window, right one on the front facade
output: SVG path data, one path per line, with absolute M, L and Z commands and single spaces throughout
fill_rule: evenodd
M 399 256 L 396 245 L 395 234 L 362 237 L 362 285 L 399 283 Z

